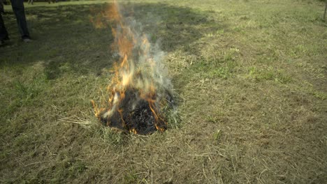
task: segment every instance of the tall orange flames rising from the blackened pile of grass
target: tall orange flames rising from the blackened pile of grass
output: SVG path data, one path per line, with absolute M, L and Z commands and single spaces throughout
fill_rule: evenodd
M 122 15 L 119 13 L 117 1 L 114 1 L 112 6 L 109 6 L 108 10 L 101 15 L 117 25 L 116 27 L 112 27 L 112 35 L 115 37 L 115 41 L 112 44 L 112 49 L 117 50 L 120 56 L 119 61 L 117 61 L 117 63 L 114 65 L 115 76 L 112 79 L 112 83 L 107 87 L 107 90 L 108 92 L 111 92 L 111 95 L 107 101 L 108 104 L 104 105 L 105 107 L 109 106 L 109 108 L 103 116 L 110 117 L 114 112 L 118 112 L 122 120 L 122 126 L 125 127 L 126 123 L 122 115 L 124 109 L 119 107 L 119 103 L 126 97 L 126 89 L 133 88 L 138 90 L 138 98 L 148 102 L 154 116 L 154 126 L 157 128 L 157 130 L 163 132 L 165 129 L 160 127 L 159 121 L 164 121 L 157 112 L 157 90 L 154 86 L 153 79 L 139 75 L 140 69 L 136 71 L 136 63 L 133 61 L 132 56 L 135 46 L 140 45 L 138 54 L 143 56 L 143 59 L 145 59 L 145 62 L 147 62 L 147 69 L 150 69 L 150 72 L 152 72 L 154 70 L 153 68 L 155 66 L 155 62 L 150 56 L 149 41 L 147 40 L 146 36 L 143 36 L 140 39 L 136 38 L 132 29 L 126 24 L 124 17 L 122 17 Z M 102 28 L 104 25 L 100 20 L 101 19 L 97 17 L 92 21 L 97 28 Z M 99 108 L 93 100 L 92 105 L 94 107 L 94 114 L 98 118 L 101 118 L 101 112 L 103 112 L 106 108 Z M 129 132 L 134 134 L 137 133 L 135 128 L 132 128 L 129 130 Z

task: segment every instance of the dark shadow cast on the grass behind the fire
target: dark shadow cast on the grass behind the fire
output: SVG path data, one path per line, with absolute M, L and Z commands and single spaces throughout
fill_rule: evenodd
M 29 66 L 43 62 L 48 79 L 64 73 L 101 75 L 103 68 L 111 68 L 114 59 L 110 45 L 113 41 L 110 28 L 95 29 L 90 18 L 104 10 L 108 4 L 36 6 L 27 8 L 27 20 L 32 43 L 15 42 L 19 38 L 13 13 L 4 20 L 12 43 L 0 49 L 0 66 Z M 161 49 L 189 51 L 189 45 L 210 31 L 221 27 L 209 20 L 210 13 L 165 3 L 129 3 L 133 17 L 143 24 L 143 31 L 151 42 L 161 43 Z M 13 43 L 14 42 L 14 43 Z

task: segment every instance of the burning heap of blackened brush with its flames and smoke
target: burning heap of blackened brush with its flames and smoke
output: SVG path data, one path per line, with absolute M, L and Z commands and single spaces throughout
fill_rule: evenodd
M 97 105 L 92 101 L 97 118 L 110 127 L 147 135 L 167 128 L 163 110 L 173 107 L 171 84 L 164 77 L 160 61 L 163 52 L 152 47 L 147 36 L 140 34 L 140 24 L 122 16 L 117 2 L 101 14 L 110 22 L 117 52 L 114 75 L 107 90 L 108 99 Z M 94 20 L 103 26 L 102 20 Z M 113 26 L 112 26 L 113 25 Z

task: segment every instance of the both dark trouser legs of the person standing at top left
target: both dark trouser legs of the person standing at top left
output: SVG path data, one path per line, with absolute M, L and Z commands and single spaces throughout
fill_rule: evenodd
M 29 30 L 27 29 L 24 1 L 23 0 L 11 0 L 11 6 L 15 13 L 18 29 L 22 38 L 29 38 Z M 8 32 L 4 26 L 2 15 L 0 15 L 0 40 L 8 38 Z

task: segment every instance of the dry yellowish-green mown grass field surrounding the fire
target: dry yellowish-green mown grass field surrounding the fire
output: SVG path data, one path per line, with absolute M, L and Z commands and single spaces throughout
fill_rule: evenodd
M 327 183 L 327 22 L 311 0 L 121 1 L 160 41 L 180 116 L 166 132 L 102 127 L 112 73 L 105 1 L 10 6 L 0 47 L 0 183 Z

